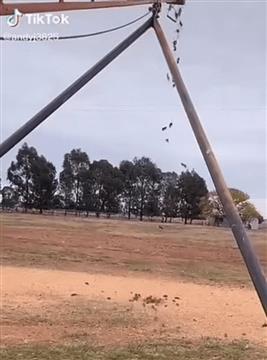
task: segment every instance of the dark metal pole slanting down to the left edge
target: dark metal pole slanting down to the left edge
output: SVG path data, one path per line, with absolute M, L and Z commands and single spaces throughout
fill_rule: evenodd
M 97 62 L 91 69 L 85 72 L 79 79 L 72 83 L 66 90 L 53 99 L 41 111 L 34 115 L 29 121 L 21 126 L 16 132 L 9 136 L 2 144 L 0 144 L 0 158 L 5 155 L 13 146 L 15 146 L 26 135 L 33 131 L 40 125 L 48 116 L 55 112 L 61 105 L 63 105 L 71 96 L 77 93 L 84 85 L 86 85 L 93 77 L 95 77 L 101 70 L 110 64 L 116 57 L 118 57 L 124 50 L 126 50 L 133 42 L 135 42 L 141 35 L 143 35 L 153 25 L 152 17 L 141 25 L 136 31 L 129 35 L 99 62 Z

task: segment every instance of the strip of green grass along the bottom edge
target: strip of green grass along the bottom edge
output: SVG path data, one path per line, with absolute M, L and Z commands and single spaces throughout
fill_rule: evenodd
M 120 349 L 76 346 L 20 346 L 0 350 L 1 360 L 264 360 L 266 349 L 245 342 L 134 345 Z

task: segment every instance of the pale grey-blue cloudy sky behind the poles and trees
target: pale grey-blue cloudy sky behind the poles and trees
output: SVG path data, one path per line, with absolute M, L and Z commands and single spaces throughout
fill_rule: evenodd
M 147 7 L 69 12 L 69 25 L 28 25 L 1 32 L 81 34 L 124 24 Z M 178 52 L 181 72 L 229 186 L 266 208 L 266 2 L 188 1 Z M 162 14 L 169 40 L 175 27 Z M 138 24 L 100 37 L 42 43 L 1 42 L 1 131 L 18 126 L 90 68 Z M 162 170 L 186 163 L 213 185 L 152 30 L 57 110 L 25 140 L 60 171 L 81 148 L 91 160 L 149 156 Z M 161 127 L 172 121 L 170 142 Z M 2 160 L 2 179 L 21 143 Z

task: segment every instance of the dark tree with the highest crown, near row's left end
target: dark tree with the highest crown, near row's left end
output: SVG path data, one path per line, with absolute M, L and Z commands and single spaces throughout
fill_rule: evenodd
M 32 165 L 38 158 L 34 147 L 24 143 L 19 149 L 16 161 L 12 161 L 7 171 L 7 179 L 19 194 L 25 211 L 33 206 L 33 173 Z

